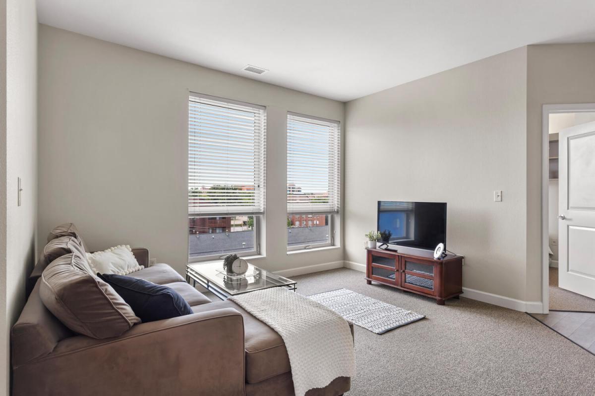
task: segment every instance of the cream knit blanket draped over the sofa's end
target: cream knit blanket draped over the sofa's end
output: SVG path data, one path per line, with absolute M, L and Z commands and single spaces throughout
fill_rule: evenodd
M 324 305 L 284 287 L 240 294 L 230 300 L 283 338 L 296 396 L 324 388 L 337 377 L 355 376 L 349 324 Z

